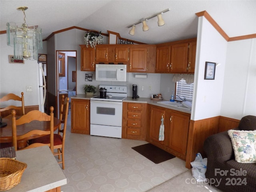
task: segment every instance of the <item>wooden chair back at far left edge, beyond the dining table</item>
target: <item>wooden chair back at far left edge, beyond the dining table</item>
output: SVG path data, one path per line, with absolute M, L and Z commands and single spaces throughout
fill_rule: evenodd
M 2 98 L 0 98 L 1 104 L 2 104 L 2 102 L 9 101 L 9 100 L 21 101 L 21 106 L 10 105 L 10 106 L 7 106 L 5 108 L 1 108 L 0 112 L 1 112 L 2 117 L 10 115 L 10 112 L 8 112 L 6 114 L 6 113 L 4 113 L 4 111 L 11 110 L 11 109 L 15 109 L 16 113 L 17 113 L 17 110 L 18 110 L 19 115 L 24 115 L 25 114 L 24 93 L 23 92 L 21 92 L 21 97 L 15 95 L 13 93 L 9 93 L 6 96 L 3 96 Z M 4 115 L 2 115 L 2 114 L 4 114 Z

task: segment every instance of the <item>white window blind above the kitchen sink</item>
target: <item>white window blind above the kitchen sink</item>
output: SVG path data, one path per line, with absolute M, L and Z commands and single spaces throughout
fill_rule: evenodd
M 186 97 L 187 101 L 192 101 L 194 91 L 194 83 L 187 84 L 184 79 L 176 82 L 176 95 L 180 96 L 183 99 L 183 96 Z M 179 99 L 179 98 L 176 98 Z

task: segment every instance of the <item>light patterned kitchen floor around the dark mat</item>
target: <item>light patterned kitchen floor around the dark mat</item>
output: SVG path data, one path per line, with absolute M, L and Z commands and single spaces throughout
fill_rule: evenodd
M 179 158 L 154 164 L 132 149 L 145 141 L 70 133 L 70 114 L 63 192 L 145 192 L 188 170 Z

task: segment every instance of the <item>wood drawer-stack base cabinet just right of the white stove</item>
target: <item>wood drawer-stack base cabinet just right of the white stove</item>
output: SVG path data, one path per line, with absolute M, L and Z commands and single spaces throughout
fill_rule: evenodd
M 122 138 L 146 139 L 147 104 L 123 102 Z

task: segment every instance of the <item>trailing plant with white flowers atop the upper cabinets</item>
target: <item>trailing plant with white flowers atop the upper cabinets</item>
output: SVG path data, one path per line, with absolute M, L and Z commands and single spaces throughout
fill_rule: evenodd
M 84 43 L 86 44 L 86 47 L 88 48 L 88 45 L 90 45 L 92 48 L 95 48 L 96 44 L 102 44 L 103 37 L 101 32 L 96 31 L 87 31 L 84 34 Z

